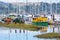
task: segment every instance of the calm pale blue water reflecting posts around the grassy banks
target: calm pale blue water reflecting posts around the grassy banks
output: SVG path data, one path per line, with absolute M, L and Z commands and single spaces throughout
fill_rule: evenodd
M 59 27 L 59 25 L 57 26 Z M 41 32 L 40 30 L 28 31 L 28 30 L 22 30 L 22 29 L 20 30 L 20 29 L 9 29 L 5 27 L 0 27 L 0 40 L 57 40 L 57 39 L 43 39 L 43 38 L 33 37 L 34 35 L 53 32 L 52 27 L 56 27 L 55 32 L 59 32 L 57 26 L 56 25 L 48 26 L 48 29 L 46 32 Z

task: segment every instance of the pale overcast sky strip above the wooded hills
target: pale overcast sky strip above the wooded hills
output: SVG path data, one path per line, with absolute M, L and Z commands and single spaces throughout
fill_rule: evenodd
M 3 2 L 26 2 L 26 0 L 0 0 L 0 1 L 3 1 Z M 27 0 L 27 2 L 49 2 L 49 3 L 57 3 L 57 2 L 60 2 L 60 0 Z

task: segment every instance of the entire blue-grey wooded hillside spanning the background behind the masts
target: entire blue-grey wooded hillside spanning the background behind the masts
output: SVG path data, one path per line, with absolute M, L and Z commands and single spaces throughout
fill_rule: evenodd
M 36 5 L 35 5 L 36 4 Z M 60 3 L 4 3 L 0 1 L 0 14 L 23 13 L 40 14 L 40 13 L 60 13 Z

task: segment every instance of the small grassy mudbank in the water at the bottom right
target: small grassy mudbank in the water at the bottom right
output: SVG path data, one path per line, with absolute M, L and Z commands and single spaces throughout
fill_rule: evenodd
M 41 35 L 35 35 L 34 37 L 37 38 L 60 38 L 59 33 L 46 33 L 46 34 L 41 34 Z

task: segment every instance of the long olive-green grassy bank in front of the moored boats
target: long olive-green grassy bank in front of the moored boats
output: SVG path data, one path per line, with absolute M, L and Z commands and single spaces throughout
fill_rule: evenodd
M 28 24 L 15 24 L 15 23 L 11 23 L 11 24 L 6 24 L 6 23 L 0 23 L 0 26 L 3 27 L 8 27 L 8 28 L 19 28 L 19 29 L 24 29 L 24 30 L 30 30 L 30 31 L 38 31 L 39 29 L 41 29 L 42 27 L 38 27 L 38 26 L 34 26 L 34 25 L 28 25 Z

